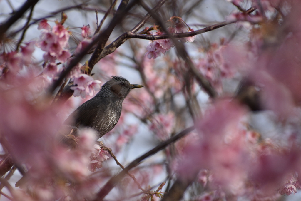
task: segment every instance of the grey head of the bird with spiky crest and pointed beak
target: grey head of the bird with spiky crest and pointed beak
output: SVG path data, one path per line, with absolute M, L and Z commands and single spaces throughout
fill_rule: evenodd
M 129 94 L 131 89 L 143 87 L 142 85 L 130 84 L 129 81 L 121 76 L 112 76 L 96 96 L 98 97 L 116 97 L 122 100 Z

